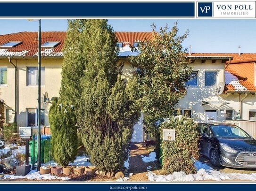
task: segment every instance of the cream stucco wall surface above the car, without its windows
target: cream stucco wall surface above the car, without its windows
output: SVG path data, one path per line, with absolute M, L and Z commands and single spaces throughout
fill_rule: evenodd
M 220 110 L 223 109 L 221 104 L 206 104 L 202 105 L 202 101 L 212 101 L 217 102 L 221 101 L 221 97 L 216 93 L 217 86 L 205 86 L 205 71 L 217 71 L 217 82 L 218 85 L 220 82 L 224 82 L 224 64 L 222 61 L 216 61 L 212 63 L 211 60 L 206 60 L 202 63 L 200 60 L 196 60 L 191 63 L 193 71 L 198 72 L 198 86 L 188 87 L 187 95 L 180 100 L 176 108 L 180 109 L 191 109 L 192 117 L 197 122 L 206 121 L 206 110 L 216 110 L 217 111 L 217 121 L 223 121 L 225 115 L 220 113 Z

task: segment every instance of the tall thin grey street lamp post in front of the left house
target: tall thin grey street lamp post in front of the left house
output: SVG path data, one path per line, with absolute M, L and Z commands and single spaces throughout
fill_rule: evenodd
M 41 167 L 41 19 L 28 19 L 29 21 L 38 21 L 38 107 L 37 107 L 37 171 Z

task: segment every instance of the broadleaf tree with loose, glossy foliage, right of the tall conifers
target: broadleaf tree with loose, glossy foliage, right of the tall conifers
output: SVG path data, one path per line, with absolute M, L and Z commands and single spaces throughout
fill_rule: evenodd
M 137 79 L 143 123 L 146 130 L 156 138 L 159 154 L 160 134 L 157 121 L 172 116 L 178 101 L 186 94 L 185 82 L 190 79 L 191 68 L 183 50 L 182 42 L 188 35 L 178 36 L 177 23 L 172 30 L 152 24 L 152 40 L 139 43 L 140 54 L 130 58 L 133 67 L 139 68 Z

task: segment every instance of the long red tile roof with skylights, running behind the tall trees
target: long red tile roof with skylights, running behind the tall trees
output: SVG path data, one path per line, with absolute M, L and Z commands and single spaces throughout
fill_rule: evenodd
M 36 56 L 38 50 L 37 32 L 18 32 L 0 35 L 0 45 L 8 41 L 22 41 L 21 45 L 13 48 L 1 48 L 0 56 Z M 124 42 L 133 46 L 133 42 L 150 40 L 153 38 L 152 32 L 116 32 L 118 42 Z M 51 49 L 42 48 L 42 56 L 63 56 L 62 47 L 66 38 L 65 31 L 41 32 L 41 44 L 51 41 L 60 42 L 58 46 Z M 23 52 L 22 52 L 23 51 Z M 22 53 L 21 53 L 22 52 Z

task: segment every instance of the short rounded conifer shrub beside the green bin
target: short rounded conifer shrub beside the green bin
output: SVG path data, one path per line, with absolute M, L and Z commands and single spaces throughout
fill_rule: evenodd
M 62 166 L 73 162 L 77 154 L 77 128 L 74 106 L 67 101 L 55 100 L 50 107 L 53 159 Z

